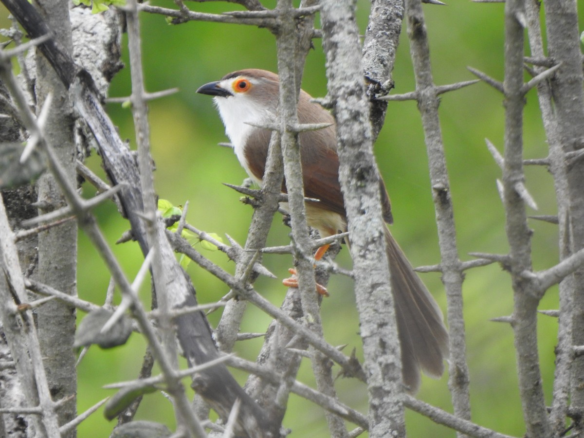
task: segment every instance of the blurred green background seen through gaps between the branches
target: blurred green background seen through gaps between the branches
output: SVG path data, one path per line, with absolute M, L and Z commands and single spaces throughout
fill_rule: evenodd
M 155 5 L 173 7 L 168 0 L 155 0 Z M 473 4 L 451 0 L 448 6 L 425 5 L 427 29 L 436 84 L 450 84 L 474 77 L 466 67 L 478 68 L 492 77 L 503 78 L 503 4 Z M 275 0 L 263 2 L 273 7 Z M 219 13 L 240 9 L 223 2 L 189 7 L 194 11 Z M 366 29 L 369 2 L 357 1 L 361 32 Z M 584 18 L 580 18 L 580 25 Z M 4 13 L 4 16 L 6 14 Z M 3 22 L 5 19 L 3 18 Z M 206 82 L 241 68 L 264 68 L 276 71 L 276 44 L 265 29 L 218 23 L 190 22 L 179 26 L 168 25 L 164 16 L 142 13 L 142 48 L 144 73 L 148 91 L 178 87 L 179 93 L 155 100 L 150 104 L 152 155 L 157 166 L 155 183 L 159 197 L 173 204 L 189 201 L 187 220 L 200 230 L 229 234 L 244 244 L 251 208 L 239 202 L 239 194 L 221 183 L 238 184 L 245 172 L 228 148 L 218 142 L 227 141 L 224 128 L 208 96 L 197 95 L 196 89 Z M 318 19 L 317 19 L 318 23 Z M 404 27 L 405 30 L 405 27 Z M 125 38 L 125 36 L 124 36 Z M 412 91 L 414 79 L 409 58 L 408 39 L 402 33 L 395 63 L 395 93 Z M 324 96 L 326 78 L 321 41 L 314 41 L 315 49 L 308 54 L 303 88 L 312 96 Z M 127 63 L 127 48 L 124 46 Z M 130 94 L 130 72 L 121 71 L 112 83 L 110 96 Z M 123 138 L 134 144 L 134 128 L 130 110 L 119 105 L 108 105 L 107 111 L 119 126 Z M 454 213 L 458 232 L 458 248 L 463 260 L 469 252 L 508 251 L 505 238 L 505 215 L 496 189 L 495 180 L 500 170 L 486 150 L 489 138 L 502 151 L 503 106 L 502 96 L 485 84 L 473 85 L 442 97 L 440 107 L 444 145 L 449 166 Z M 527 96 L 525 109 L 524 144 L 526 158 L 543 158 L 547 144 L 534 92 Z M 426 149 L 416 105 L 413 102 L 390 102 L 383 131 L 377 140 L 376 157 L 390 193 L 395 224 L 391 230 L 414 266 L 439 263 L 436 225 L 429 187 Z M 100 170 L 95 154 L 89 165 Z M 556 203 L 552 178 L 545 168 L 527 168 L 527 187 L 539 210 L 529 214 L 555 214 Z M 85 187 L 86 196 L 95 193 Z M 133 277 L 142 256 L 135 244 L 114 245 L 128 224 L 120 220 L 112 205 L 97 210 L 100 226 L 109 238 L 114 251 L 124 263 L 124 269 Z M 531 221 L 534 269 L 545 269 L 558 259 L 557 228 L 554 225 Z M 269 244 L 286 244 L 288 228 L 281 218 L 274 218 Z M 223 253 L 197 248 L 229 272 L 234 263 Z M 339 255 L 340 265 L 351 266 L 345 248 Z M 272 303 L 279 305 L 285 288 L 280 279 L 291 266 L 289 256 L 267 256 L 265 265 L 276 273 L 278 280 L 259 279 L 256 288 Z M 218 300 L 228 289 L 213 276 L 191 263 L 189 273 L 200 303 Z M 422 274 L 434 296 L 446 313 L 446 299 L 439 274 Z M 79 237 L 79 296 L 102 303 L 109 276 L 103 262 L 93 251 L 83 234 Z M 326 339 L 332 345 L 348 344 L 346 352 L 355 347 L 361 354 L 357 314 L 352 283 L 335 277 L 329 284 L 331 297 L 322 303 L 322 321 Z M 513 334 L 509 325 L 490 322 L 489 319 L 509 315 L 513 308 L 509 275 L 498 265 L 467 272 L 464 283 L 467 353 L 470 366 L 472 420 L 498 432 L 523 436 L 521 403 L 517 391 Z M 149 290 L 142 291 L 149 304 Z M 540 308 L 557 308 L 557 288 L 544 297 Z M 210 316 L 216 324 L 219 312 Z M 79 312 L 79 317 L 82 317 Z M 270 319 L 249 307 L 242 330 L 263 332 Z M 547 402 L 551 400 L 554 371 L 554 346 L 557 321 L 540 316 L 540 357 Z M 246 359 L 255 359 L 261 340 L 239 342 L 237 353 Z M 130 338 L 128 345 L 113 350 L 92 347 L 79 365 L 79 412 L 113 393 L 102 385 L 135 378 L 140 369 L 144 343 L 139 336 Z M 336 367 L 335 371 L 338 371 Z M 235 371 L 243 382 L 245 376 Z M 304 363 L 299 379 L 313 384 L 310 364 Z M 185 381 L 188 387 L 188 381 Z M 353 380 L 337 381 L 339 398 L 361 412 L 367 412 L 367 390 Z M 189 390 L 190 391 L 190 390 Z M 451 411 L 447 377 L 440 381 L 425 378 L 418 397 L 447 411 Z M 142 402 L 138 419 L 149 419 L 174 426 L 171 403 L 162 395 L 147 395 Z M 435 425 L 422 416 L 406 414 L 408 436 L 454 437 L 455 433 Z M 326 437 L 328 429 L 322 409 L 292 396 L 284 426 L 293 436 Z M 92 415 L 79 427 L 80 437 L 107 436 L 113 423 L 107 422 L 101 411 Z M 354 427 L 353 425 L 349 426 Z M 363 436 L 366 436 L 364 434 Z

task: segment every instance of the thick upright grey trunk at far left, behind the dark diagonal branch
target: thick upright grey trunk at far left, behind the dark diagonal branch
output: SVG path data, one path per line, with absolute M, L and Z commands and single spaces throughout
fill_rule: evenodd
M 54 30 L 54 38 L 61 42 L 68 54 L 72 53 L 71 23 L 67 0 L 43 0 L 41 9 Z M 51 68 L 46 58 L 36 56 L 36 100 L 37 114 L 48 95 L 52 95 L 51 109 L 43 134 L 54 145 L 57 159 L 67 172 L 69 183 L 76 185 L 74 141 L 74 117 L 67 89 Z M 39 179 L 37 190 L 41 213 L 56 210 L 66 205 L 54 176 L 46 173 Z M 77 295 L 77 224 L 69 221 L 60 227 L 39 233 L 39 266 L 34 276 L 49 286 Z M 72 348 L 75 335 L 75 311 L 60 301 L 44 305 L 37 314 L 40 345 L 43 352 L 47 378 L 51 393 L 56 399 L 77 394 L 75 373 L 75 351 Z M 76 401 L 71 398 L 59 411 L 61 424 L 76 416 Z M 75 431 L 68 432 L 74 437 Z

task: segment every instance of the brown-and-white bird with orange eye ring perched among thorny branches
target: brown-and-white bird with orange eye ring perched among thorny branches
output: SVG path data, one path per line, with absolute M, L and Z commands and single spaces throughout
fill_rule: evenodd
M 213 96 L 239 163 L 260 186 L 272 134 L 260 126 L 269 126 L 275 120 L 279 86 L 279 77 L 273 72 L 242 69 L 197 89 L 197 93 Z M 298 122 L 328 124 L 325 128 L 298 134 L 304 195 L 307 199 L 318 200 L 305 202 L 307 223 L 318 230 L 321 237 L 345 232 L 347 218 L 339 183 L 335 119 L 301 90 Z M 390 199 L 381 176 L 379 185 L 383 218 L 391 224 Z M 285 180 L 282 191 L 286 192 Z M 444 360 L 449 357 L 449 334 L 439 305 L 387 226 L 384 226 L 384 235 L 401 346 L 402 381 L 406 391 L 415 394 L 420 387 L 420 371 L 433 378 L 440 378 L 444 373 Z M 322 257 L 326 248 L 328 246 L 319 248 L 315 259 Z

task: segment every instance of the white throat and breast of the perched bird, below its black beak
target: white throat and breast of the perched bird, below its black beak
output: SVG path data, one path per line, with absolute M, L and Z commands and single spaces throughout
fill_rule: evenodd
M 253 100 L 244 95 L 236 94 L 227 98 L 217 96 L 213 100 L 225 125 L 225 134 L 231 140 L 239 163 L 250 178 L 261 185 L 261 180 L 253 176 L 253 173 L 249 170 L 244 154 L 244 146 L 249 134 L 256 129 L 251 124 L 259 125 L 271 122 L 273 115 L 267 112 L 265 108 L 254 105 Z

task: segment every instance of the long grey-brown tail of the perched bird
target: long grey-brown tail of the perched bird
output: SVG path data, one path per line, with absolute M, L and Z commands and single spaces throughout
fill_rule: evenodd
M 408 392 L 413 394 L 420 387 L 420 369 L 434 378 L 444 373 L 444 359 L 449 356 L 448 332 L 438 304 L 387 228 L 385 240 L 402 353 L 402 377 Z

